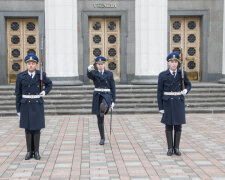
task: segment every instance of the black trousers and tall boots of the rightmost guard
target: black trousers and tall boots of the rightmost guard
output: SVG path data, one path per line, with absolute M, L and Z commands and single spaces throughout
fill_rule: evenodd
M 173 139 L 173 128 L 174 128 L 174 139 Z M 180 146 L 180 137 L 181 137 L 182 125 L 166 125 L 166 140 L 168 145 L 168 156 L 172 156 L 172 154 L 176 154 L 178 156 L 181 155 L 179 150 Z

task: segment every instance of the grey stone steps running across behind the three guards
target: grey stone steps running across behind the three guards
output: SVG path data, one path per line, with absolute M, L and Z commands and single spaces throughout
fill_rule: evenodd
M 156 85 L 117 85 L 114 114 L 158 113 Z M 14 85 L 0 86 L 0 117 L 16 115 Z M 53 86 L 44 97 L 47 115 L 91 114 L 93 85 Z M 187 113 L 225 113 L 225 85 L 192 83 Z

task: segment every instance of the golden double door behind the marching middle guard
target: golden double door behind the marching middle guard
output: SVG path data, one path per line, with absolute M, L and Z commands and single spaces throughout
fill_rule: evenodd
M 107 58 L 105 69 L 113 72 L 115 81 L 120 81 L 120 19 L 89 19 L 89 57 L 94 64 L 97 56 Z

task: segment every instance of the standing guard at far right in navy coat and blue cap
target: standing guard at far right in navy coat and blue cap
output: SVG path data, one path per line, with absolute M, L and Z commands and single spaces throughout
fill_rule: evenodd
M 184 86 L 182 91 L 181 71 L 177 68 L 179 55 L 171 53 L 167 57 L 169 69 L 163 71 L 158 77 L 157 100 L 159 112 L 162 113 L 161 122 L 165 124 L 166 139 L 168 144 L 167 155 L 173 153 L 180 156 L 179 151 L 182 124 L 185 120 L 184 96 L 191 90 L 191 83 L 184 72 Z M 174 141 L 173 141 L 174 129 Z

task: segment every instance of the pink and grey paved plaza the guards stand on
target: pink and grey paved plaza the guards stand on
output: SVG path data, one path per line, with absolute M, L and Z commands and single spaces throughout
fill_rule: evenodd
M 187 114 L 182 156 L 166 155 L 160 114 L 114 115 L 100 146 L 94 115 L 46 116 L 41 160 L 25 161 L 19 118 L 0 117 L 0 179 L 225 179 L 225 114 Z

